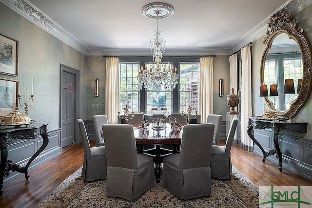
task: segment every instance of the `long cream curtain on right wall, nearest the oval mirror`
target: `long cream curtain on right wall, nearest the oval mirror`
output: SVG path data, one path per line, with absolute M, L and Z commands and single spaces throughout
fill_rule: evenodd
M 247 134 L 248 118 L 252 115 L 252 57 L 250 46 L 241 50 L 242 55 L 242 87 L 241 87 L 241 147 L 247 151 L 254 150 L 253 141 Z

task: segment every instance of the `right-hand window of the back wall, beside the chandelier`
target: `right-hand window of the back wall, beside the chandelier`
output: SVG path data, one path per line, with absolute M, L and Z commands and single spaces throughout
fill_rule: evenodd
M 198 111 L 199 105 L 199 63 L 179 63 L 180 112 Z

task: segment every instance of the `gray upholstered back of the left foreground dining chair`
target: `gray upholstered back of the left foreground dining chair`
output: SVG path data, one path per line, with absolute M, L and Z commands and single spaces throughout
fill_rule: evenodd
M 137 169 L 137 147 L 132 125 L 102 126 L 108 167 Z

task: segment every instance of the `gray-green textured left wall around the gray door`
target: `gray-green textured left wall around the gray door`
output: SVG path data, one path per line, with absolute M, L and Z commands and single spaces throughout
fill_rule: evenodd
M 30 96 L 31 79 L 34 77 L 34 105 L 29 109 L 31 119 L 48 123 L 49 131 L 59 129 L 60 64 L 80 71 L 80 117 L 86 117 L 83 54 L 2 3 L 0 3 L 0 33 L 19 41 L 19 76 L 0 74 L 0 77 L 19 80 L 21 75 L 22 99 L 25 98 L 26 83 Z M 24 109 L 20 110 L 24 112 Z

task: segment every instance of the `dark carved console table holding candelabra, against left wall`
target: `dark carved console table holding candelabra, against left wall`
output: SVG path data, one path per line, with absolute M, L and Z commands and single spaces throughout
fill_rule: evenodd
M 43 138 L 43 144 L 38 151 L 30 158 L 25 167 L 8 160 L 8 145 L 11 140 L 14 139 L 36 139 L 41 135 Z M 14 128 L 12 126 L 1 126 L 0 127 L 0 151 L 1 151 L 1 162 L 0 162 L 0 196 L 3 193 L 3 178 L 9 176 L 10 171 L 17 171 L 25 173 L 25 178 L 28 180 L 28 167 L 31 162 L 46 148 L 49 143 L 47 124 L 29 124 Z

